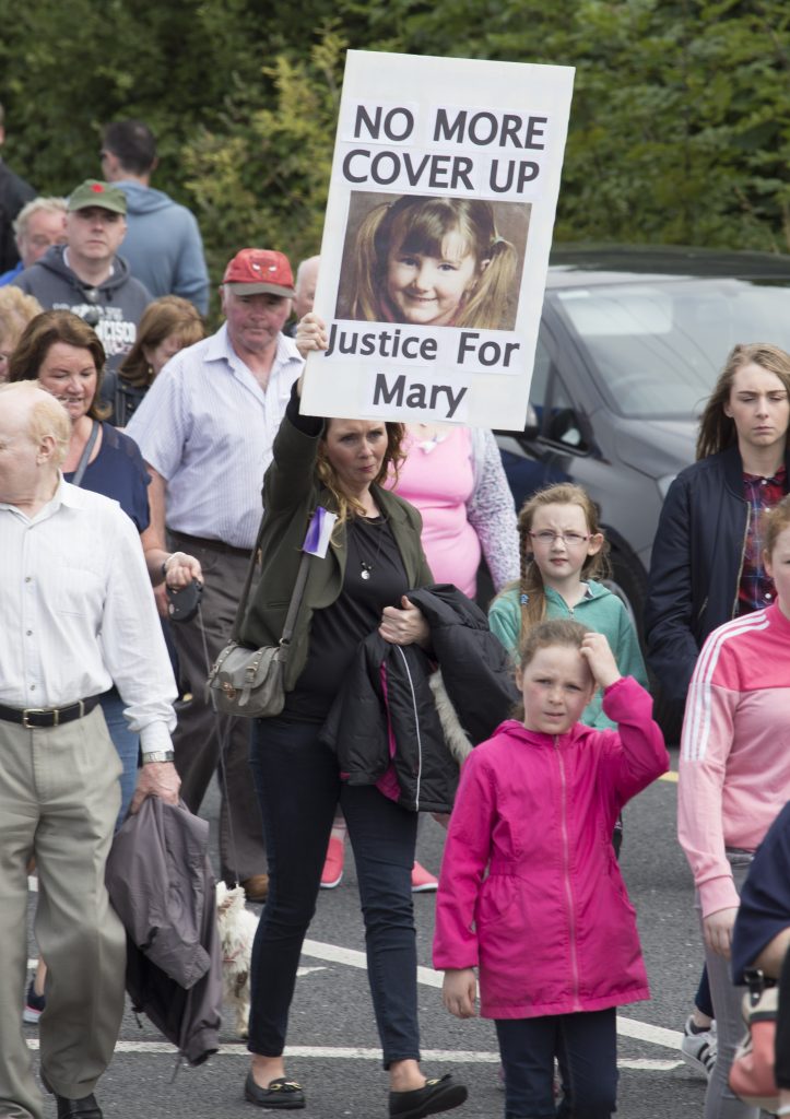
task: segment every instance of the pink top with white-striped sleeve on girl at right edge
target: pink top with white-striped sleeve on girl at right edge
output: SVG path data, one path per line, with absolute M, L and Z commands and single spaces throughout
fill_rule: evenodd
M 680 741 L 678 838 L 703 916 L 737 905 L 726 847 L 754 850 L 790 800 L 790 621 L 726 622 L 697 660 Z

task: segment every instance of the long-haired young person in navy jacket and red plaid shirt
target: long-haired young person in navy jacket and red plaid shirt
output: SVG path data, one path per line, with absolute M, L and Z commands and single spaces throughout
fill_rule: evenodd
M 774 600 L 760 514 L 790 489 L 789 423 L 790 356 L 768 342 L 736 346 L 703 412 L 697 461 L 669 487 L 652 546 L 648 664 L 678 715 L 706 638 Z M 708 1075 L 713 1010 L 705 971 L 681 1052 Z

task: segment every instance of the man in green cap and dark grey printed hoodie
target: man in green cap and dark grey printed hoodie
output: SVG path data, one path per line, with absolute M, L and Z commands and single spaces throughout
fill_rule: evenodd
M 87 179 L 72 191 L 66 207 L 66 244 L 53 245 L 13 283 L 45 310 L 73 311 L 92 326 L 114 373 L 151 302 L 117 255 L 126 232 L 126 198 L 117 187 Z

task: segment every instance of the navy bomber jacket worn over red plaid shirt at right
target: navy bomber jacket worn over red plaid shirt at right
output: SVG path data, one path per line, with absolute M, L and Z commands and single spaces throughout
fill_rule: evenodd
M 786 454 L 790 477 L 790 452 Z M 705 638 L 737 609 L 750 507 L 737 446 L 680 471 L 661 509 L 650 562 L 645 633 L 665 696 L 686 702 Z

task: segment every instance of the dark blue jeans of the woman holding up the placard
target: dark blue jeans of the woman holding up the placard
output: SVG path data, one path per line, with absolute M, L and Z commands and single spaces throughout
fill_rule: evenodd
M 412 905 L 416 812 L 374 787 L 340 781 L 337 759 L 319 743 L 320 727 L 258 720 L 251 765 L 269 854 L 269 897 L 252 957 L 248 1049 L 279 1056 L 302 942 L 316 912 L 327 843 L 340 801 L 359 881 L 368 981 L 384 1051 L 420 1060 L 417 956 Z

